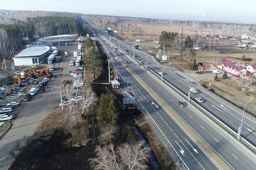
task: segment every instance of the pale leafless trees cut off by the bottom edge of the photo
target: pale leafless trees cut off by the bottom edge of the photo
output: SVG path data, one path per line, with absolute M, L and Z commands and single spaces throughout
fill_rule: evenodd
M 117 149 L 114 149 L 113 144 L 103 148 L 96 146 L 96 158 L 89 159 L 91 167 L 94 170 L 148 169 L 145 163 L 148 162 L 150 148 L 144 145 L 145 141 L 139 141 L 134 145 L 121 144 Z

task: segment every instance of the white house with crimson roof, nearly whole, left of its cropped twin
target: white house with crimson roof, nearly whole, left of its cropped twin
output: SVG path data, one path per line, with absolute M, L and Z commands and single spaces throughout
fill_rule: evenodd
M 236 77 L 240 77 L 241 74 L 245 74 L 247 72 L 245 67 L 242 67 L 241 65 L 237 65 L 233 61 L 225 61 L 221 65 L 218 65 L 217 69 L 226 71 L 227 73 Z

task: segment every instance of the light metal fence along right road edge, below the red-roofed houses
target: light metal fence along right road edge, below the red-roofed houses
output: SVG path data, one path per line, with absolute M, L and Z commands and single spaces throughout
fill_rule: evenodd
M 197 82 L 197 87 L 204 91 L 205 93 L 209 94 L 210 96 L 212 96 L 213 98 L 219 100 L 220 102 L 223 102 L 225 105 L 231 107 L 233 110 L 239 112 L 240 114 L 243 114 L 243 110 L 237 108 L 236 106 L 232 105 L 231 103 L 229 103 L 228 101 L 224 100 L 223 98 L 220 98 L 219 96 L 217 96 L 216 94 L 213 94 L 212 92 L 210 92 L 209 90 L 203 88 L 198 82 Z M 244 112 L 244 116 L 247 117 L 248 119 L 251 119 L 253 122 L 256 123 L 256 118 L 254 118 L 253 116 L 247 114 L 246 112 Z

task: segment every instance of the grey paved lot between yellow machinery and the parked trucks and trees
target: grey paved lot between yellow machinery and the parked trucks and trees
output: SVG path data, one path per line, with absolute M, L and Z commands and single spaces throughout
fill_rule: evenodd
M 59 50 L 59 55 L 62 55 L 62 61 L 56 63 L 56 71 L 53 71 L 53 76 L 57 76 L 55 79 L 48 82 L 45 87 L 45 92 L 40 91 L 32 97 L 31 101 L 22 102 L 23 97 L 18 101 L 21 101 L 20 106 L 14 109 L 10 113 L 18 113 L 18 116 L 13 120 L 12 128 L 5 134 L 5 136 L 0 140 L 0 169 L 7 170 L 12 165 L 20 151 L 27 144 L 28 140 L 34 135 L 36 129 L 40 126 L 43 120 L 52 111 L 59 110 L 57 107 L 60 103 L 60 89 L 63 88 L 62 81 L 71 79 L 68 74 L 69 70 L 75 71 L 75 66 L 69 66 L 69 60 L 73 56 L 73 51 L 77 51 L 77 42 L 60 43 L 56 47 Z M 69 56 L 65 57 L 64 52 L 67 51 Z M 47 65 L 47 67 L 51 64 Z M 45 76 L 37 77 L 40 81 L 43 80 Z M 35 85 L 29 85 L 31 87 Z M 28 87 L 29 87 L 28 86 Z M 30 87 L 30 88 L 31 88 Z

